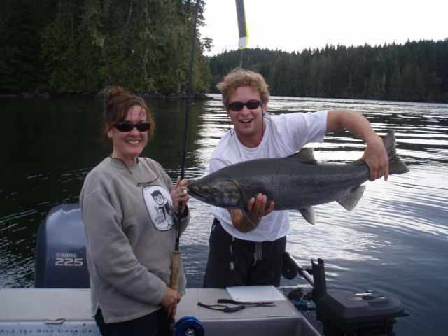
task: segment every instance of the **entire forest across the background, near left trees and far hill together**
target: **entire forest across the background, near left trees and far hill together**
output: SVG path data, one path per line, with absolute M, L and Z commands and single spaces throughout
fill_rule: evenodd
M 246 48 L 207 57 L 213 41 L 200 34 L 205 2 L 195 41 L 196 94 L 216 92 L 216 83 L 242 57 L 243 67 L 265 76 L 272 95 L 448 102 L 448 38 L 301 52 Z M 0 93 L 97 94 L 121 85 L 148 98 L 185 97 L 195 4 L 3 1 Z

